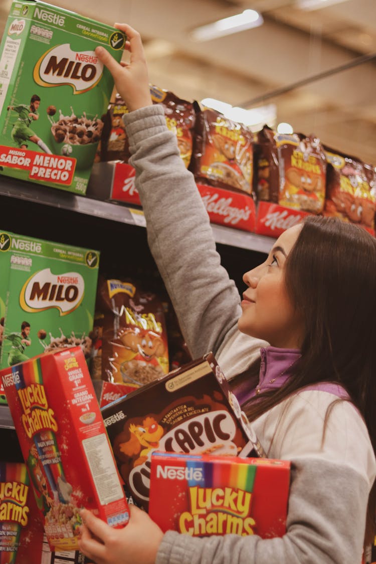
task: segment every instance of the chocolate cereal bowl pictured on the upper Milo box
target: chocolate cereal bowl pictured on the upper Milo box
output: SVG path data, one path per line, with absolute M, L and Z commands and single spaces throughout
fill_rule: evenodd
M 59 110 L 59 118 L 50 117 L 51 148 L 55 155 L 76 158 L 77 169 L 91 167 L 103 129 L 98 116 L 83 112 L 76 116 L 71 109 L 69 115 Z

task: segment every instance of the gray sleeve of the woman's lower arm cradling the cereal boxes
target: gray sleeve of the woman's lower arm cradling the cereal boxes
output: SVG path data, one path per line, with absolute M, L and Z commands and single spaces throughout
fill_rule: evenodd
M 369 487 L 345 465 L 292 463 L 287 532 L 281 538 L 167 531 L 156 564 L 360 564 Z

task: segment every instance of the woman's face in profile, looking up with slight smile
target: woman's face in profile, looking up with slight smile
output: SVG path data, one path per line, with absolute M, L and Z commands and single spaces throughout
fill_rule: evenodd
M 300 229 L 297 225 L 284 231 L 266 261 L 243 276 L 248 288 L 241 302 L 239 330 L 284 349 L 300 349 L 304 338 L 303 317 L 294 310 L 284 279 L 286 258 Z

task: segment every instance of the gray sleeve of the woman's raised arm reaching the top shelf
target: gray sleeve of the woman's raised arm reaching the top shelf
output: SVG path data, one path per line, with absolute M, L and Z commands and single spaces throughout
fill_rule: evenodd
M 216 352 L 241 314 L 235 283 L 220 265 L 209 217 L 191 172 L 154 105 L 124 117 L 147 221 L 148 243 L 193 358 Z

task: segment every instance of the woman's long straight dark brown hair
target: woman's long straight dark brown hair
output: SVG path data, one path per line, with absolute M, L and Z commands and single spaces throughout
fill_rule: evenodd
M 376 240 L 335 218 L 309 216 L 285 264 L 291 303 L 302 312 L 302 356 L 277 391 L 243 406 L 255 420 L 315 382 L 338 382 L 364 417 L 376 450 Z M 366 539 L 373 539 L 376 487 L 369 498 Z

